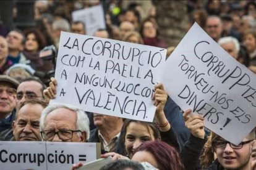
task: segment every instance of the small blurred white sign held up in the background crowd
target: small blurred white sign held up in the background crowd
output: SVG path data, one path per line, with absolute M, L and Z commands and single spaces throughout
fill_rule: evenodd
M 72 12 L 73 21 L 85 23 L 86 33 L 93 35 L 98 29 L 105 29 L 105 15 L 101 5 Z

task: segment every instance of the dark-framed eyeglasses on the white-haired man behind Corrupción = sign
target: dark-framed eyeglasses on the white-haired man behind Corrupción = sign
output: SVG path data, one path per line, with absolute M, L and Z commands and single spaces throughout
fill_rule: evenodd
M 41 136 L 43 140 L 51 141 L 54 139 L 54 136 L 57 134 L 61 140 L 72 139 L 74 132 L 81 132 L 80 130 L 60 130 L 60 131 L 41 131 Z

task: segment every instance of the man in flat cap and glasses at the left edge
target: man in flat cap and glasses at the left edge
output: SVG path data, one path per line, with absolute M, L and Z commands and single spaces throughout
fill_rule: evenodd
M 15 118 L 16 89 L 19 82 L 0 75 L 0 140 L 12 136 L 12 121 Z

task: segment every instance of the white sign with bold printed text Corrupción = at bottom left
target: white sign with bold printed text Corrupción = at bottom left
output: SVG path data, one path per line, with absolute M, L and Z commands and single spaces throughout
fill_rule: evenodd
M 74 163 L 100 158 L 100 143 L 0 142 L 2 170 L 70 169 Z

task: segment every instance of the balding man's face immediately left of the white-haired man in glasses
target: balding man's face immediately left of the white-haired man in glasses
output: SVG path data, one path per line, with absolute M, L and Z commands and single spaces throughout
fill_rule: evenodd
M 16 141 L 41 141 L 39 121 L 43 107 L 39 104 L 26 104 L 20 108 L 12 123 Z

